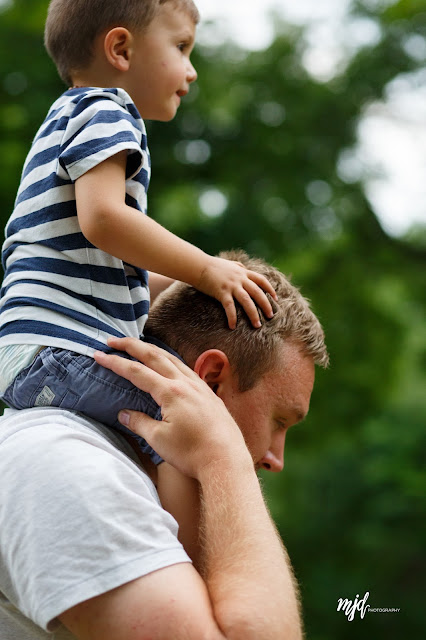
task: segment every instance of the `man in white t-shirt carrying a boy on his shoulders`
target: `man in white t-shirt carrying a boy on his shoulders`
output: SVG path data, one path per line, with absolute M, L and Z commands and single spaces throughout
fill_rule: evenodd
M 128 339 L 114 346 L 145 366 L 101 356 L 161 406 L 161 422 L 135 412 L 121 422 L 199 483 L 198 571 L 121 435 L 63 411 L 12 413 L 0 431 L 2 637 L 47 638 L 49 629 L 58 640 L 301 638 L 290 564 L 256 470 L 282 469 L 287 430 L 308 411 L 314 363 L 328 356 L 318 320 L 282 274 L 228 257 L 277 291 L 261 329 L 241 314 L 231 332 L 216 301 L 174 285 L 147 331 L 193 370 Z

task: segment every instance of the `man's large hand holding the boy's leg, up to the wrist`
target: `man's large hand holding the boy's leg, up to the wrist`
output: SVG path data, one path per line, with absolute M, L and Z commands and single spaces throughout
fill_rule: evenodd
M 99 364 L 150 393 L 161 407 L 162 421 L 137 411 L 123 411 L 119 419 L 166 462 L 196 479 L 212 464 L 253 468 L 240 429 L 194 371 L 172 354 L 135 338 L 111 338 L 108 344 L 143 362 L 95 353 Z

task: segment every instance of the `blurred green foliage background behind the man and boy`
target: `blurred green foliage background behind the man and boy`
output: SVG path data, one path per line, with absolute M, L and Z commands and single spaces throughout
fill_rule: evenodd
M 32 137 L 64 89 L 42 45 L 47 4 L 0 7 L 3 225 Z M 331 367 L 318 371 L 309 417 L 287 438 L 284 473 L 264 477 L 307 637 L 417 639 L 426 637 L 426 228 L 388 237 L 363 184 L 337 166 L 363 108 L 424 67 L 403 45 L 426 37 L 426 4 L 365 0 L 352 11 L 382 37 L 329 82 L 301 64 L 302 27 L 277 26 L 265 51 L 199 46 L 199 80 L 178 116 L 148 123 L 149 211 L 210 253 L 242 247 L 292 274 L 324 325 Z M 336 612 L 338 598 L 366 591 L 372 607 L 400 613 L 348 622 Z

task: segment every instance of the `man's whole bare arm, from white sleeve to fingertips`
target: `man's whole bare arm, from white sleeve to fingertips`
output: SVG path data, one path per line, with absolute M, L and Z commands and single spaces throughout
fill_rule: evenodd
M 202 492 L 202 577 L 176 565 L 61 616 L 80 640 L 296 640 L 302 637 L 286 552 L 241 432 L 198 376 L 152 345 L 114 340 L 146 366 L 99 362 L 153 395 L 163 421 L 130 412 L 129 426 Z

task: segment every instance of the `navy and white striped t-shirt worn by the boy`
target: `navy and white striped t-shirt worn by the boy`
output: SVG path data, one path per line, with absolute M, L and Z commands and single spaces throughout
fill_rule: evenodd
M 143 269 L 95 248 L 82 234 L 75 181 L 127 150 L 126 203 L 146 214 L 150 157 L 144 123 L 122 89 L 66 91 L 25 161 L 6 226 L 0 347 L 107 351 L 109 336 L 140 337 L 149 310 Z

